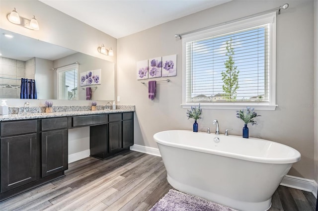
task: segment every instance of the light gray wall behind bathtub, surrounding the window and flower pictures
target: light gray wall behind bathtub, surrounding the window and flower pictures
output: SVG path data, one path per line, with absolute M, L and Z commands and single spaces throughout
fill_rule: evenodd
M 162 130 L 191 130 L 193 120 L 182 109 L 182 41 L 175 33 L 233 20 L 283 5 L 286 1 L 234 0 L 178 20 L 127 36 L 117 41 L 117 94 L 121 104 L 136 106 L 135 144 L 157 148 L 153 135 Z M 277 16 L 277 62 L 275 111 L 258 111 L 258 125 L 250 125 L 250 136 L 272 140 L 297 149 L 302 160 L 288 174 L 314 179 L 314 1 L 290 1 L 288 10 Z M 136 80 L 136 61 L 177 54 L 177 76 L 170 83 L 157 84 L 157 97 L 148 99 L 148 87 Z M 130 91 L 132 90 L 132 91 Z M 203 126 L 215 130 L 233 128 L 230 134 L 241 135 L 243 122 L 235 110 L 204 109 Z

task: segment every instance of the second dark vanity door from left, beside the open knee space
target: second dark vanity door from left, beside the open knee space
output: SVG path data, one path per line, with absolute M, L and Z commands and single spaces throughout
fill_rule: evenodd
M 42 132 L 42 177 L 68 169 L 68 130 Z

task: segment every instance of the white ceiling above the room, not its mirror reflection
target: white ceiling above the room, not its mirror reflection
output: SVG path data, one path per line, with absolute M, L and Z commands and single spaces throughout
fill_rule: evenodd
M 231 0 L 40 1 L 118 39 Z

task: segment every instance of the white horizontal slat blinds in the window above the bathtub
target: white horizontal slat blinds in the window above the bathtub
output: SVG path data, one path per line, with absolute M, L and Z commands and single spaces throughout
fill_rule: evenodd
M 271 23 L 185 42 L 185 103 L 271 100 Z M 239 27 L 236 27 L 239 28 Z

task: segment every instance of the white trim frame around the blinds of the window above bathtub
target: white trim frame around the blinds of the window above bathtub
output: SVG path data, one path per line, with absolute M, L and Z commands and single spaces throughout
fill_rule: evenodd
M 270 33 L 270 73 L 269 73 L 269 103 L 263 105 L 248 105 L 255 106 L 258 110 L 275 110 L 276 105 L 276 11 L 264 15 L 259 15 L 252 18 L 247 18 L 244 20 L 239 20 L 236 22 L 231 22 L 229 24 L 217 26 L 211 29 L 203 30 L 200 32 L 195 32 L 182 36 L 182 104 L 183 108 L 189 108 L 195 104 L 194 102 L 187 102 L 187 90 L 186 90 L 186 43 L 193 40 L 200 40 L 207 37 L 212 37 L 216 35 L 225 35 L 227 33 L 232 33 L 234 31 L 239 31 L 246 29 L 248 27 L 254 27 L 257 25 L 270 23 L 269 33 Z M 241 102 L 239 102 L 241 103 Z M 253 103 L 252 101 L 246 102 Z M 203 103 L 204 104 L 204 103 Z M 202 104 L 202 105 L 203 105 Z M 244 103 L 241 103 L 244 104 Z M 244 105 L 237 104 L 222 104 L 222 103 L 207 103 L 204 108 L 207 109 L 241 109 Z M 202 106 L 203 108 L 203 106 Z

